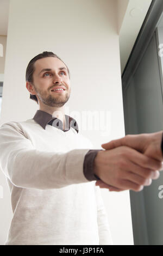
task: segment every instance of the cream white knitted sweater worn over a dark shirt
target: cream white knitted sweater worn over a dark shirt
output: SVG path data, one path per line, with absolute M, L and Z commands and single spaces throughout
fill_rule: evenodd
M 111 245 L 96 181 L 83 174 L 89 139 L 33 119 L 0 127 L 0 167 L 13 217 L 5 245 Z

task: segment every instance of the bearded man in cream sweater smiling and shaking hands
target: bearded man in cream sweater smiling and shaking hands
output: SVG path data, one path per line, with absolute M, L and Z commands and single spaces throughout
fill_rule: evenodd
M 112 244 L 95 181 L 140 191 L 158 178 L 161 161 L 126 146 L 91 149 L 76 120 L 64 114 L 70 71 L 54 53 L 30 60 L 26 81 L 39 110 L 33 119 L 0 127 L 0 163 L 14 213 L 5 244 Z

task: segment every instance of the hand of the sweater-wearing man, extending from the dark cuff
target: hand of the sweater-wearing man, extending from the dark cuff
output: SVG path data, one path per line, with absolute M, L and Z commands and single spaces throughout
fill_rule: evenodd
M 126 146 L 99 151 L 94 163 L 94 173 L 101 179 L 96 185 L 110 191 L 141 191 L 159 178 L 157 170 L 162 168 L 161 161 Z

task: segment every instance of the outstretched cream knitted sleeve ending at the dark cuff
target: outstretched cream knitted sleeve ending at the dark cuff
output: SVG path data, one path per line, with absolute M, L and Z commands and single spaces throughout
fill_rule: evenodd
M 47 190 L 89 182 L 83 173 L 84 157 L 89 150 L 40 151 L 16 122 L 0 127 L 0 167 L 17 187 Z

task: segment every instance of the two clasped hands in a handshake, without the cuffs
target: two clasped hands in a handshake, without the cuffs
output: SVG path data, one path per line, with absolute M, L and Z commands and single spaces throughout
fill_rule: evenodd
M 109 191 L 141 191 L 158 179 L 163 169 L 163 131 L 127 135 L 102 144 L 94 161 L 96 186 Z

